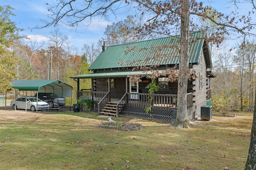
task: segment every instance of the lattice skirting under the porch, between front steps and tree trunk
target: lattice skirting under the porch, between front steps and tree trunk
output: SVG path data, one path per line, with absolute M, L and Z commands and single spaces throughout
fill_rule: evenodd
M 173 121 L 172 109 L 161 110 L 157 108 L 152 108 L 152 111 L 150 113 L 145 113 L 145 108 L 124 106 L 122 111 L 119 114 L 120 116 L 126 115 L 131 117 L 142 117 L 142 118 L 151 118 L 151 119 L 158 119 L 158 120 L 164 120 L 164 121 Z

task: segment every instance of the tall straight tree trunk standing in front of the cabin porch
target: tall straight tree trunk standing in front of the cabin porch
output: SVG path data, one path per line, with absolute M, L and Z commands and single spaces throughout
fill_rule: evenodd
M 180 61 L 179 61 L 179 80 L 178 80 L 178 102 L 176 128 L 189 128 L 187 115 L 187 91 L 188 91 L 188 62 L 190 44 L 190 11 L 189 0 L 184 0 L 181 5 L 180 14 Z

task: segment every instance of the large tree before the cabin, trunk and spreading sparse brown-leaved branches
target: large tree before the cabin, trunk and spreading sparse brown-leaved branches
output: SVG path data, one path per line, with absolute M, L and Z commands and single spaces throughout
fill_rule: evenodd
M 142 29 L 146 29 L 149 33 L 157 31 L 157 33 L 170 35 L 174 32 L 180 33 L 180 60 L 179 60 L 179 80 L 178 80 L 178 109 L 177 109 L 177 127 L 188 127 L 187 112 L 186 112 L 186 90 L 188 82 L 188 53 L 190 43 L 190 32 L 200 30 L 200 25 L 196 20 L 191 18 L 200 17 L 204 20 L 210 20 L 218 25 L 218 31 L 205 38 L 206 41 L 221 43 L 223 35 L 229 31 L 236 31 L 243 35 L 248 35 L 253 25 L 250 23 L 250 15 L 236 17 L 233 14 L 224 15 L 210 6 L 203 6 L 202 2 L 194 0 L 178 0 L 178 1 L 151 1 L 151 0 L 126 0 L 125 3 L 121 0 L 96 0 L 84 1 L 85 8 L 80 8 L 77 1 L 71 0 L 64 2 L 58 0 L 56 3 L 50 4 L 48 11 L 51 22 L 45 22 L 45 27 L 50 25 L 58 25 L 60 23 L 78 26 L 81 21 L 89 25 L 92 18 L 99 16 L 102 19 L 108 20 L 110 15 L 115 15 L 120 8 L 125 6 L 137 6 L 140 14 L 148 14 L 150 18 L 144 23 Z M 100 7 L 97 5 L 101 4 Z M 93 9 L 93 10 L 92 10 Z M 208 12 L 211 11 L 211 12 Z M 216 20 L 218 19 L 218 20 Z M 241 28 L 238 23 L 243 23 Z M 173 47 L 176 48 L 176 47 Z

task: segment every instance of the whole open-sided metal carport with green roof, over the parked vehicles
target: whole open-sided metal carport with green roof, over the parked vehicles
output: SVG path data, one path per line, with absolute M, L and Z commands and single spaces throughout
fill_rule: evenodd
M 71 97 L 72 103 L 73 87 L 61 80 L 18 80 L 12 82 L 12 88 L 19 91 L 52 92 L 59 97 Z

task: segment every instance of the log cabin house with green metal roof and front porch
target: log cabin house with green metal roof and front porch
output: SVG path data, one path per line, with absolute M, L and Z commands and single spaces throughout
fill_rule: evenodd
M 212 61 L 205 32 L 191 34 L 190 69 L 196 72 L 198 78 L 188 81 L 187 110 L 188 118 L 193 120 L 200 117 L 200 107 L 211 100 L 210 78 L 215 77 L 211 72 Z M 164 70 L 173 68 L 179 63 L 179 36 L 169 36 L 146 41 L 114 45 L 106 47 L 103 43 L 102 53 L 88 68 L 93 73 L 72 76 L 77 82 L 90 78 L 91 89 L 77 91 L 77 99 L 89 97 L 94 102 L 90 111 L 99 114 L 131 116 L 172 121 L 176 119 L 177 82 L 164 82 L 164 77 L 157 79 L 160 86 L 155 92 L 152 102 L 148 101 L 148 89 L 151 83 L 147 78 L 149 72 L 135 69 L 137 66 L 157 65 Z M 156 57 L 158 56 L 158 57 Z M 177 67 L 178 68 L 178 67 Z M 140 75 L 140 82 L 129 81 L 129 75 Z M 145 108 L 151 111 L 146 113 Z

